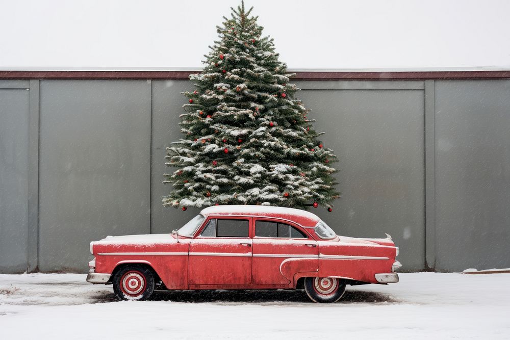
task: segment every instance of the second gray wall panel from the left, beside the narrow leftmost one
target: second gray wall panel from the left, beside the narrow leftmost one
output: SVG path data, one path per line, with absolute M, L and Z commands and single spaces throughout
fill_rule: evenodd
M 42 81 L 39 268 L 87 270 L 90 241 L 149 232 L 150 81 Z

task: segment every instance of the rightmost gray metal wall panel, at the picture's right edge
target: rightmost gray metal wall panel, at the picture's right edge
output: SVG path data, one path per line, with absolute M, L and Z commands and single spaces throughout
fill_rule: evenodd
M 436 269 L 510 267 L 510 81 L 436 82 Z

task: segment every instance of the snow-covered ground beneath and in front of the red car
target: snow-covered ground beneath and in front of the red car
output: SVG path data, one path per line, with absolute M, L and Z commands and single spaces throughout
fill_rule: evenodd
M 335 304 L 302 291 L 162 292 L 114 302 L 80 274 L 0 275 L 0 338 L 510 338 L 510 274 L 401 274 Z

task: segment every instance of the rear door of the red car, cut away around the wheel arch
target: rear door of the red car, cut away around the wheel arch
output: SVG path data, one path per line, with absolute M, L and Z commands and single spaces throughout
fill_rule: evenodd
M 319 269 L 319 247 L 306 230 L 282 220 L 253 218 L 253 284 L 289 284 Z

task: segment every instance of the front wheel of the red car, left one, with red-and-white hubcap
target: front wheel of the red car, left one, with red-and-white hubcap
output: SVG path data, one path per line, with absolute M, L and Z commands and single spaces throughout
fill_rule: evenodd
M 117 300 L 146 300 L 154 292 L 154 275 L 144 266 L 124 267 L 113 278 L 113 291 Z

